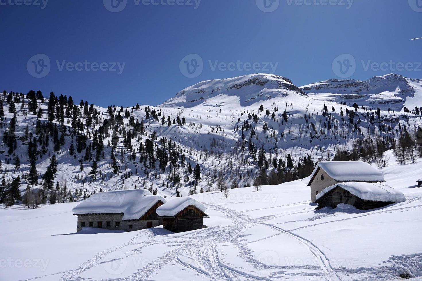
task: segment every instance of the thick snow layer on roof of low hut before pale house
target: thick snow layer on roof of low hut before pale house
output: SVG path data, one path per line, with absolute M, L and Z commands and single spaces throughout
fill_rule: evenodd
M 380 202 L 403 202 L 406 201 L 404 194 L 394 188 L 381 183 L 370 182 L 341 182 L 326 187 L 317 194 L 317 200 L 336 187 L 341 187 L 351 194 L 368 201 Z

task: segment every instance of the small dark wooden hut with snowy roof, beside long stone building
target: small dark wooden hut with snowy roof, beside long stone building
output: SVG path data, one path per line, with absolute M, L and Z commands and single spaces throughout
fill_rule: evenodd
M 173 232 L 202 228 L 205 211 L 204 204 L 191 197 L 176 197 L 157 208 L 162 227 Z

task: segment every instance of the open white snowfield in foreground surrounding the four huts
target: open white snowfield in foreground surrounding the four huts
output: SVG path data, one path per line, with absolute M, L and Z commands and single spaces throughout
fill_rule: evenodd
M 392 158 L 391 151 L 386 158 Z M 406 201 L 315 211 L 309 178 L 192 195 L 206 228 L 76 234 L 77 203 L 0 209 L 0 280 L 392 280 L 422 276 L 422 159 L 382 169 Z M 25 262 L 25 266 L 23 263 Z M 3 265 L 2 264 L 2 265 Z M 413 280 L 413 279 L 411 279 Z M 416 280 L 416 279 L 415 279 Z

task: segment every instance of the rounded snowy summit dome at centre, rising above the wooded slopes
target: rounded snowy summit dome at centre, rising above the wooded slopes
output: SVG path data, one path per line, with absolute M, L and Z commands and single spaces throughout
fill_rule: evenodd
M 161 107 L 230 107 L 241 109 L 254 103 L 289 95 L 307 96 L 285 77 L 252 74 L 235 78 L 208 80 L 183 89 Z

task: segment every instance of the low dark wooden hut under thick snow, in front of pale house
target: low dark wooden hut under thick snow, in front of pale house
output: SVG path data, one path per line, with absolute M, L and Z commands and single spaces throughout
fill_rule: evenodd
M 318 203 L 317 210 L 323 207 L 335 208 L 340 203 L 368 210 L 405 200 L 403 193 L 381 183 L 341 182 L 318 193 L 315 202 Z

